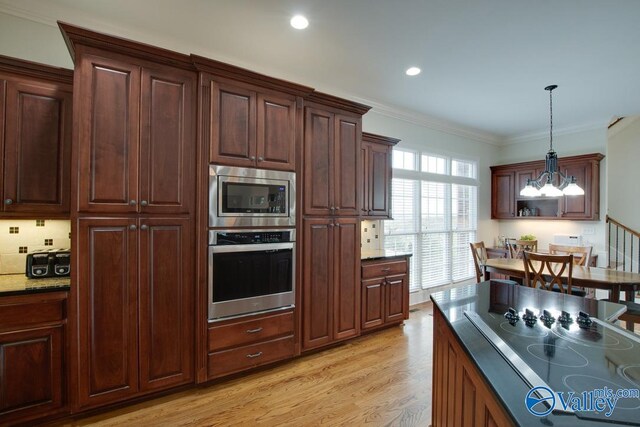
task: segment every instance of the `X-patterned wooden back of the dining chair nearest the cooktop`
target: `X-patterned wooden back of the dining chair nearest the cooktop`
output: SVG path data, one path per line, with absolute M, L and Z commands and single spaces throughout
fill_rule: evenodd
M 524 251 L 522 260 L 526 286 L 547 291 L 557 287 L 560 292 L 571 294 L 573 255 L 546 255 Z

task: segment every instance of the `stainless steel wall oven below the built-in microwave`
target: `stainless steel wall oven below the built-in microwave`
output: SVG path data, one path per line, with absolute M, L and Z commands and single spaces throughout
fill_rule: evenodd
M 209 321 L 293 307 L 295 230 L 209 231 Z

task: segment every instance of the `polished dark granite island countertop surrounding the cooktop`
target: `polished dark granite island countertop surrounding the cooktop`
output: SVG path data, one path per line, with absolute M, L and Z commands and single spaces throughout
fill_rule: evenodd
M 531 289 L 500 283 L 482 282 L 477 285 L 461 286 L 451 290 L 438 292 L 431 296 L 434 308 L 445 317 L 450 329 L 458 337 L 462 348 L 474 361 L 478 370 L 493 389 L 498 402 L 502 402 L 505 410 L 511 414 L 519 425 L 553 425 L 560 426 L 605 426 L 614 425 L 603 420 L 578 418 L 574 414 L 557 414 L 555 411 L 545 418 L 531 415 L 524 402 L 531 389 L 520 374 L 507 362 L 496 348 L 466 317 L 465 311 L 474 313 L 498 313 L 494 316 L 502 318 L 500 313 L 513 307 L 553 306 L 571 313 L 578 310 L 589 312 L 592 317 L 606 321 L 616 318 L 624 308 L 620 304 L 608 303 L 589 298 L 562 295 L 555 292 Z M 493 316 L 492 316 L 493 317 Z M 594 361 L 594 363 L 597 363 Z M 602 360 L 605 364 L 606 360 Z M 592 368 L 591 368 L 592 369 Z M 556 374 L 557 375 L 557 374 Z

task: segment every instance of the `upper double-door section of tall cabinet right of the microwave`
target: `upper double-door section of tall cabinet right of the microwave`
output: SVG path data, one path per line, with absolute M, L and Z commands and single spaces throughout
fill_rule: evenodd
M 360 214 L 362 114 L 369 107 L 336 108 L 314 93 L 305 106 L 304 214 Z M 338 99 L 338 98 L 335 98 Z

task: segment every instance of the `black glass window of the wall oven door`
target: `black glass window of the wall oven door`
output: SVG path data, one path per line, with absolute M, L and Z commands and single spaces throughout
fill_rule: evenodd
M 213 302 L 292 291 L 292 249 L 213 255 Z

